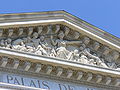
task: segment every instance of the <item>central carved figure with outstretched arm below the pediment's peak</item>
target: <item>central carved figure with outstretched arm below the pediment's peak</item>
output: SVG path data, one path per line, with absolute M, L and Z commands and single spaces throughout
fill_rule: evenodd
M 64 40 L 65 34 L 63 31 L 58 33 L 58 39 L 54 40 L 51 36 L 52 45 L 56 47 L 56 57 L 70 60 L 72 59 L 73 52 L 66 49 L 68 44 L 82 43 L 81 41 L 68 41 Z

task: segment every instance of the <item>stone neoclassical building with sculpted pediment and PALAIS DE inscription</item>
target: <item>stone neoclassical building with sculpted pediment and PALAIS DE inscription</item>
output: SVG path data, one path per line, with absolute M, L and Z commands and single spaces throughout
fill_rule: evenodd
M 65 11 L 0 15 L 1 90 L 120 90 L 120 38 Z

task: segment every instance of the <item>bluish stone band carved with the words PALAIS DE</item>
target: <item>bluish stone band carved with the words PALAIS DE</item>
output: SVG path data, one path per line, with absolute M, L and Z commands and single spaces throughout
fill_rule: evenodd
M 62 83 L 57 81 L 51 81 L 46 79 L 38 79 L 38 78 L 27 78 L 21 76 L 14 75 L 4 75 L 3 82 L 23 85 L 35 88 L 42 88 L 47 90 L 103 90 L 99 88 L 89 88 L 88 86 L 81 86 L 69 83 Z

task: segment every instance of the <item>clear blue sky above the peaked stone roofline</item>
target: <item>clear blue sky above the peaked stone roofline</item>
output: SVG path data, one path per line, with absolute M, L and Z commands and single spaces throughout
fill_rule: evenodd
M 120 38 L 120 0 L 0 0 L 0 13 L 65 10 Z

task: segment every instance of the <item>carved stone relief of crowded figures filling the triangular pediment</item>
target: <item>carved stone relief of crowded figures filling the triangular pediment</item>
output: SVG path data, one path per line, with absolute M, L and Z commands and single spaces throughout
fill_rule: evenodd
M 119 69 L 119 65 L 115 62 L 119 58 L 119 52 L 111 52 L 109 47 L 103 47 L 99 42 L 67 26 L 62 28 L 61 25 L 53 26 L 54 29 L 52 25 L 48 25 L 45 30 L 43 26 L 38 27 L 37 30 L 29 28 L 27 35 L 23 37 L 19 37 L 24 32 L 20 28 L 17 38 L 1 39 L 0 46 L 83 64 Z

